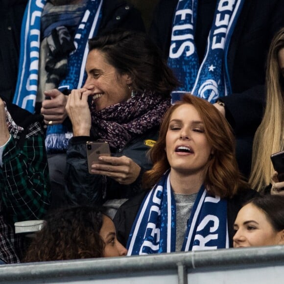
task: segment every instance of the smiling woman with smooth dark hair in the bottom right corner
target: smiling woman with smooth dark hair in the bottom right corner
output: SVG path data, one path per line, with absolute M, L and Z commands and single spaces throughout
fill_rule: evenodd
M 284 244 L 284 196 L 249 201 L 237 214 L 234 230 L 234 247 Z

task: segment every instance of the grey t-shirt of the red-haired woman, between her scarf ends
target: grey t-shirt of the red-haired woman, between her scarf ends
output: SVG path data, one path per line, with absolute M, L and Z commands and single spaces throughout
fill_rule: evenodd
M 193 194 L 173 193 L 176 203 L 176 251 L 181 251 L 188 227 L 188 219 L 198 192 Z

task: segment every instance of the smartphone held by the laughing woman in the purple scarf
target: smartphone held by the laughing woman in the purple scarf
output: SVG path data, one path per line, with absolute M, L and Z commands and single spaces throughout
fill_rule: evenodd
M 87 161 L 89 173 L 91 172 L 93 164 L 102 164 L 103 162 L 98 159 L 99 156 L 110 156 L 110 146 L 107 142 L 86 142 Z

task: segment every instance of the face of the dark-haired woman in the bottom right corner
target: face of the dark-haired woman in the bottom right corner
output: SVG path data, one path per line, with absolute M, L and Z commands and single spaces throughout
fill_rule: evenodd
M 275 231 L 265 213 L 252 203 L 240 209 L 234 230 L 234 247 L 276 245 L 282 241 L 282 231 Z

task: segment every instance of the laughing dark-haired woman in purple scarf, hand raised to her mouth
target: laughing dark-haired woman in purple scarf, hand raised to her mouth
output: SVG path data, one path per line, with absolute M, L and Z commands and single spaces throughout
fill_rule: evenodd
M 141 190 L 170 92 L 177 80 L 143 33 L 119 31 L 89 41 L 87 80 L 68 97 L 73 138 L 67 151 L 67 195 L 79 204 L 129 198 Z M 88 172 L 86 142 L 108 142 Z

